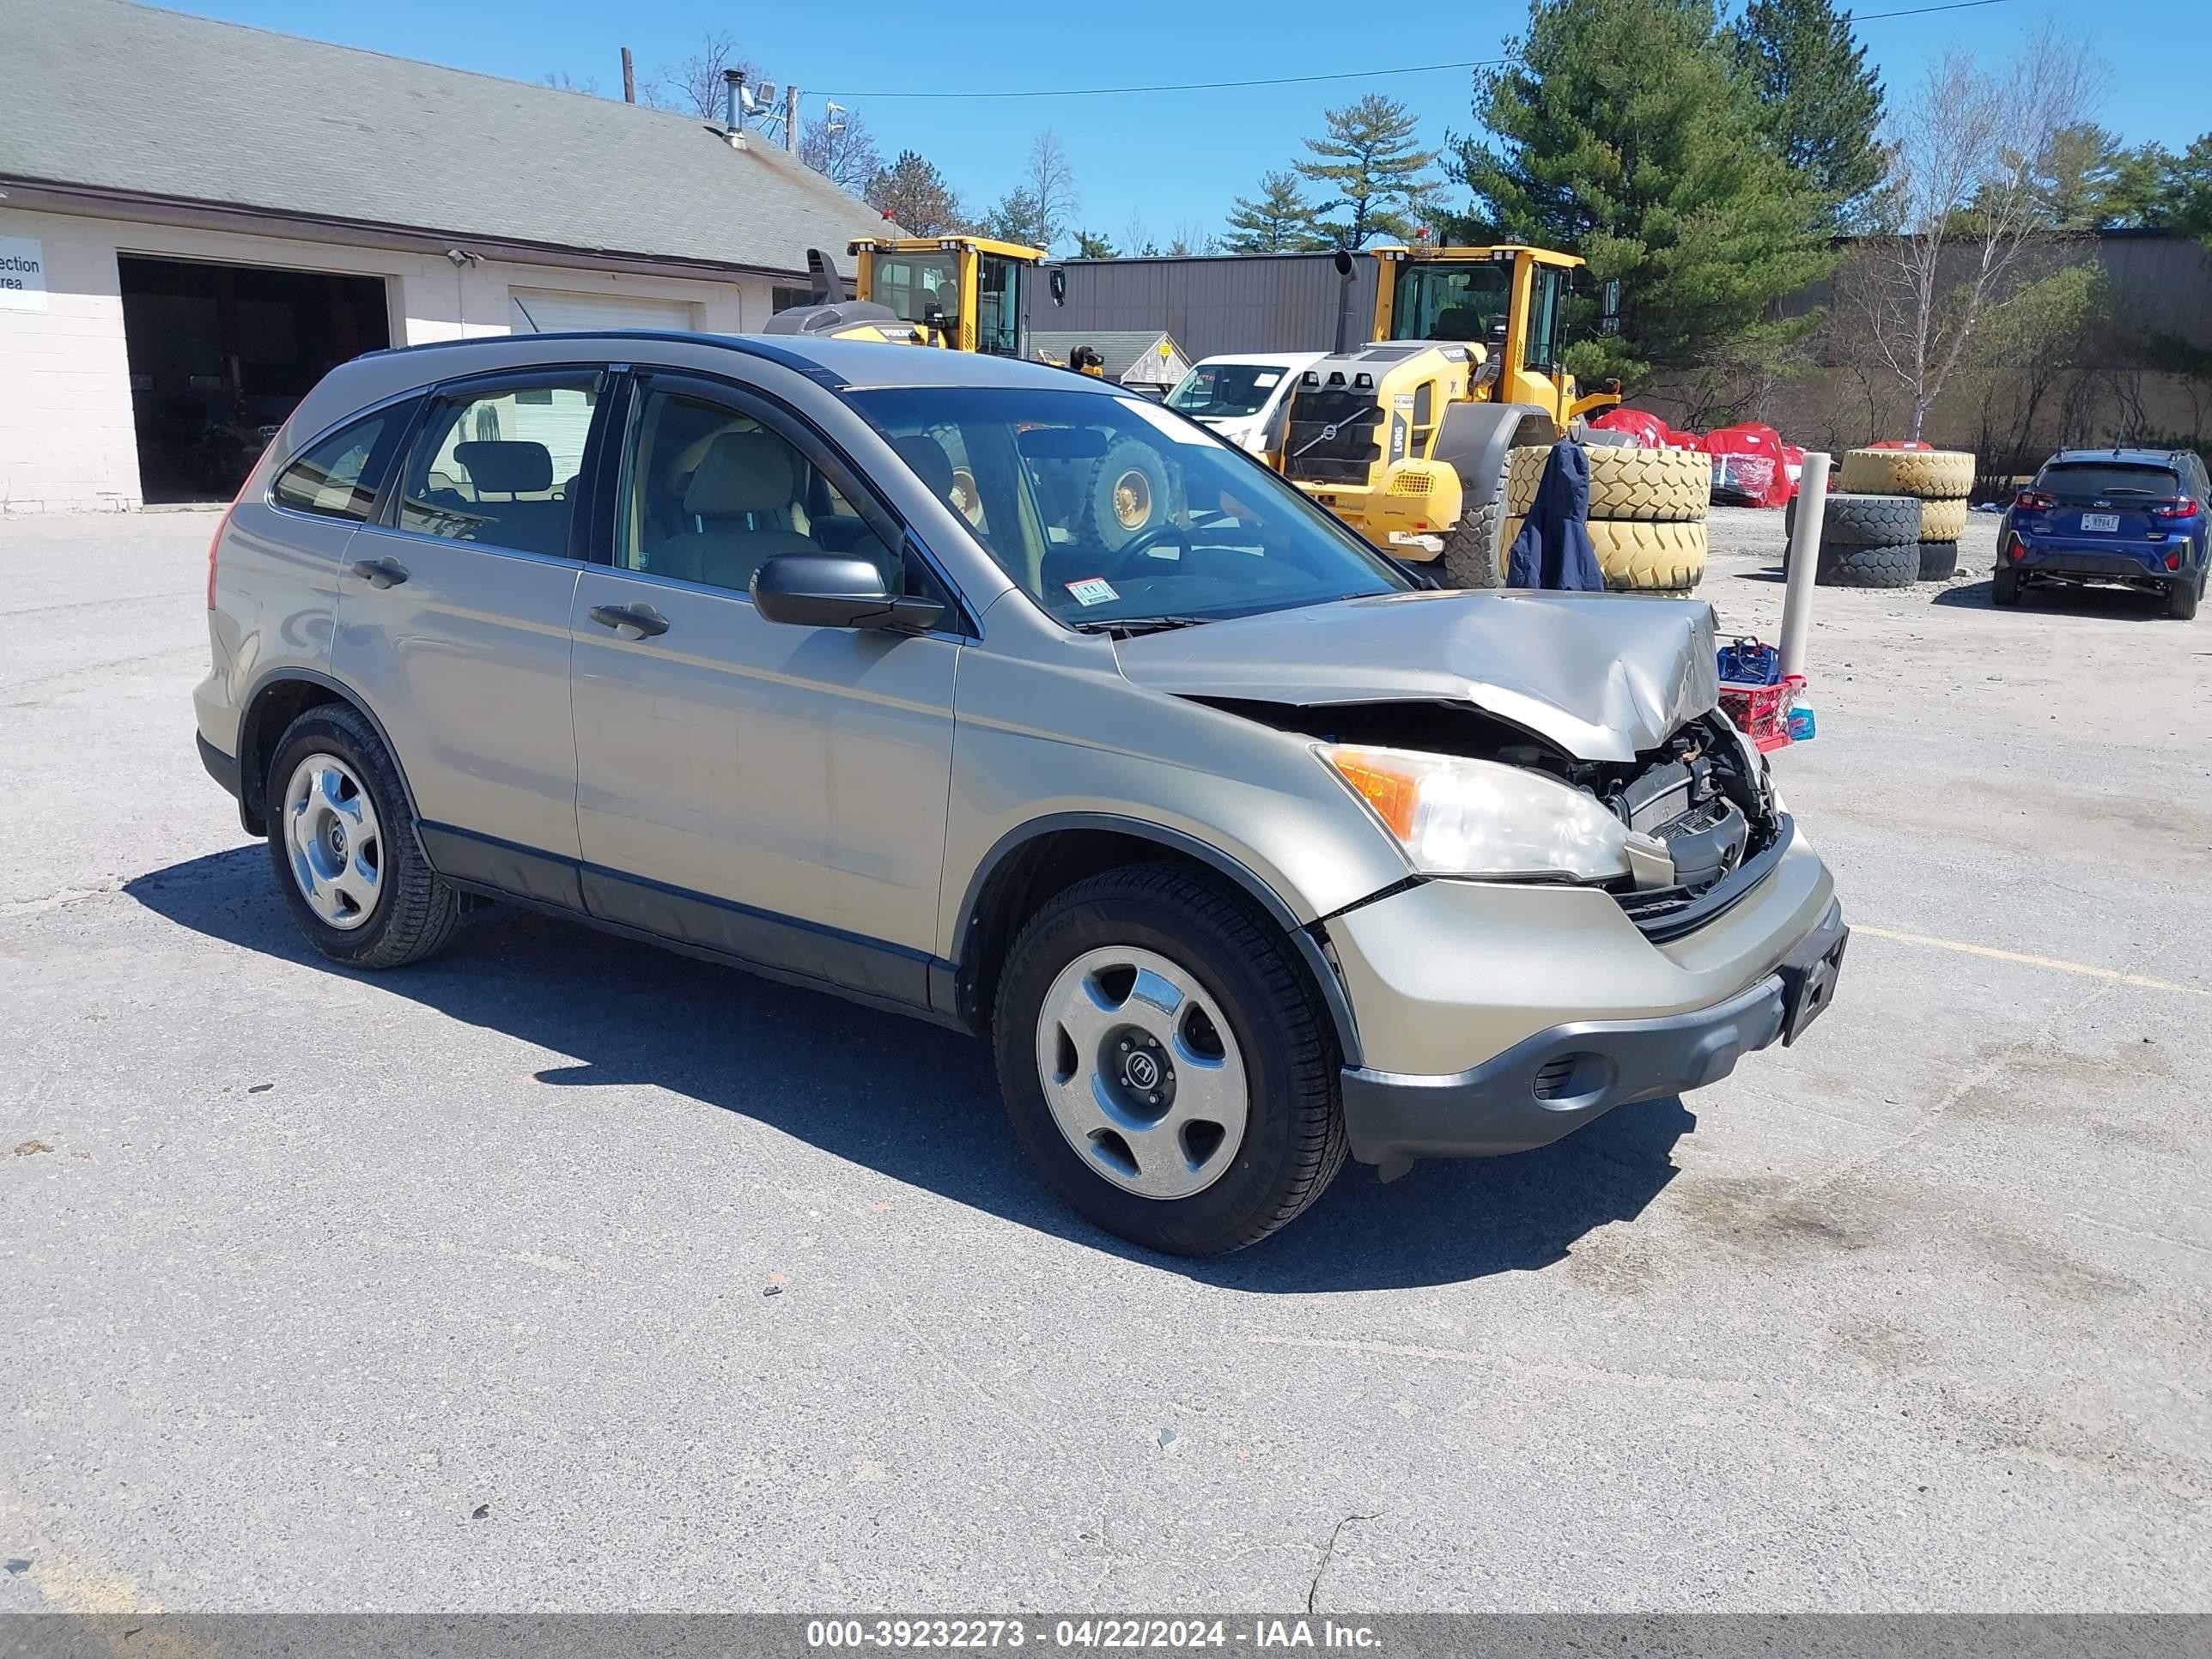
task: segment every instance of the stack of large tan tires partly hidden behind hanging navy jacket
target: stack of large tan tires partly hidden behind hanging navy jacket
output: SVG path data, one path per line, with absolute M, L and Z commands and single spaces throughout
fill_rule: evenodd
M 1608 588 L 1688 593 L 1705 575 L 1705 507 L 1712 456 L 1697 449 L 1586 445 L 1590 458 L 1590 546 Z M 1506 462 L 1506 522 L 1500 564 L 1544 482 L 1551 449 L 1515 449 Z

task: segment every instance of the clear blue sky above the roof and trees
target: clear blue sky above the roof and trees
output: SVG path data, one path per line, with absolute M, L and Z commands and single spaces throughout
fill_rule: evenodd
M 2099 119 L 2128 142 L 2188 144 L 2212 126 L 2212 4 L 2203 0 L 2000 0 L 1973 9 L 1876 20 L 1927 0 L 1865 0 L 1860 40 L 1893 88 L 1918 77 L 1951 42 L 1997 58 L 2048 15 L 2070 38 L 2115 42 L 2112 91 Z M 334 7 L 303 0 L 168 0 L 179 11 L 425 58 L 513 80 L 564 71 L 622 95 L 622 53 L 639 77 L 690 53 L 706 27 L 728 29 L 779 82 L 796 80 L 805 113 L 823 95 L 852 104 L 885 155 L 922 150 L 971 206 L 1020 177 L 1031 139 L 1060 133 L 1082 192 L 1082 223 L 1124 241 L 1130 217 L 1166 241 L 1177 226 L 1219 230 L 1230 199 L 1301 155 L 1321 111 L 1387 91 L 1422 115 L 1429 144 L 1467 131 L 1469 71 L 1367 75 L 1305 86 L 1252 86 L 1133 97 L 889 97 L 889 93 L 1130 86 L 1374 71 L 1398 64 L 1495 58 L 1526 18 L 1511 0 L 1389 0 L 1369 11 L 1343 0 L 1029 0 L 958 7 L 929 0 L 847 0 L 763 7 L 703 0 L 378 0 Z M 1363 27 L 1371 20 L 1374 27 Z M 2157 51 L 2146 58 L 2148 42 Z M 2097 40 L 2086 42 L 2097 51 Z M 159 86 L 148 95 L 159 100 Z

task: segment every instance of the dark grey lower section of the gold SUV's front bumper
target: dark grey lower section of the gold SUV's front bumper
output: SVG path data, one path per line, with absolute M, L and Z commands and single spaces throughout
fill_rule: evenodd
M 1849 936 L 1829 900 L 1772 973 L 1708 1009 L 1548 1026 L 1449 1077 L 1347 1068 L 1352 1157 L 1389 1175 L 1416 1157 L 1526 1152 L 1615 1106 L 1717 1084 L 1743 1055 L 1794 1042 L 1827 1006 Z

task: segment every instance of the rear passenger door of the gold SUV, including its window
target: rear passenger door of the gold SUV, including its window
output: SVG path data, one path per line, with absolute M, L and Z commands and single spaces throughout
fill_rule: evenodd
M 568 608 L 604 369 L 442 385 L 345 551 L 334 672 L 385 726 L 451 876 L 580 905 Z

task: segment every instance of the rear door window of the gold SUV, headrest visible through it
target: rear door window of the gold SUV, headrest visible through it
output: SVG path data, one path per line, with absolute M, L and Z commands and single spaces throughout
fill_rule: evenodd
M 566 557 L 597 400 L 591 372 L 436 398 L 400 471 L 398 526 Z

